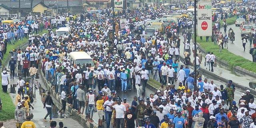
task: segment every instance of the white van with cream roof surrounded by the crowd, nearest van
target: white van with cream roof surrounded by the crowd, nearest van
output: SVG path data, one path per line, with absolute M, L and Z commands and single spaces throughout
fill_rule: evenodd
M 70 52 L 68 55 L 68 59 L 70 59 L 70 64 L 92 64 L 94 66 L 94 62 L 92 58 L 86 52 Z

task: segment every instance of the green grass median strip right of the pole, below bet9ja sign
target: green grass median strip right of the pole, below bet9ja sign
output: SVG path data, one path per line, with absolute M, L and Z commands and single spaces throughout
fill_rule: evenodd
M 200 40 L 200 39 L 199 39 Z M 228 62 L 230 68 L 234 66 L 240 66 L 241 68 L 244 68 L 246 70 L 256 72 L 256 63 L 247 60 L 243 58 L 242 56 L 237 56 L 228 50 L 224 49 L 222 52 L 219 52 L 218 45 L 214 45 L 213 42 L 203 42 L 205 39 L 201 40 L 199 42 L 200 46 L 206 50 L 206 52 L 210 51 L 213 52 L 216 56 L 218 56 L 220 59 Z

